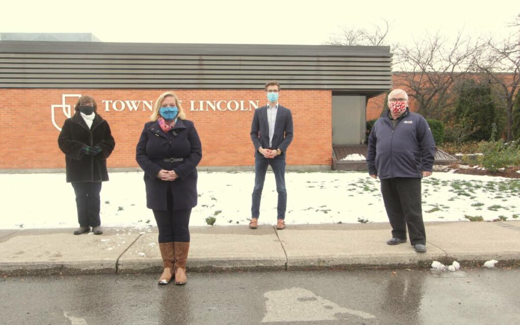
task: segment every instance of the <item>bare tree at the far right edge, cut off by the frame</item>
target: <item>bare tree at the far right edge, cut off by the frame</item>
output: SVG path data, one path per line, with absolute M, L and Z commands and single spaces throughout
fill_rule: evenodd
M 508 38 L 496 41 L 492 37 L 482 44 L 484 50 L 477 51 L 475 62 L 495 84 L 498 99 L 505 106 L 506 139 L 513 139 L 513 105 L 515 94 L 520 89 L 520 15 L 509 25 L 514 29 Z

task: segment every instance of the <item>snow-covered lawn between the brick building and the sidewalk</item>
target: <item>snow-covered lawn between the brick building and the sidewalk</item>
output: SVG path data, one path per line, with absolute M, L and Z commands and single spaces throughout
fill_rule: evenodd
M 105 227 L 155 226 L 146 207 L 142 172 L 111 173 L 101 190 Z M 287 224 L 387 222 L 379 180 L 366 172 L 287 172 Z M 77 227 L 72 186 L 64 174 L 1 174 L 3 211 L 0 229 Z M 199 205 L 190 225 L 246 225 L 251 217 L 254 172 L 200 172 Z M 423 179 L 425 221 L 484 220 L 520 215 L 520 180 L 434 173 Z M 260 224 L 276 223 L 275 178 L 268 172 Z M 520 218 L 518 218 L 520 220 Z

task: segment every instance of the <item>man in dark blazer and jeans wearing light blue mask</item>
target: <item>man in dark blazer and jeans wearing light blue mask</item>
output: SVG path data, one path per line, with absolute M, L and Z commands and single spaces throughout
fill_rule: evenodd
M 264 189 L 267 166 L 271 165 L 275 174 L 276 191 L 278 192 L 277 229 L 285 228 L 285 207 L 287 206 L 287 190 L 285 190 L 285 151 L 293 138 L 291 110 L 278 103 L 280 84 L 269 81 L 265 84 L 268 103 L 255 110 L 251 123 L 251 140 L 255 147 L 255 187 L 252 195 L 251 222 L 249 228 L 258 227 L 260 200 Z

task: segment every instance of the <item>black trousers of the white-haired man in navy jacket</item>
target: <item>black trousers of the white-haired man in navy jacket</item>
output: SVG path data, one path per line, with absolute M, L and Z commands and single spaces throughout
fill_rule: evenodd
M 410 243 L 426 244 L 426 231 L 422 219 L 421 178 L 395 177 L 381 179 L 381 193 L 386 214 L 392 226 L 392 237 Z

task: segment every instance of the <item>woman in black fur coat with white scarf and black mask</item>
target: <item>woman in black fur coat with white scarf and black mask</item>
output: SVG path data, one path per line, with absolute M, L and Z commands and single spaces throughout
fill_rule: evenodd
M 115 147 L 108 122 L 97 113 L 97 103 L 82 96 L 74 106 L 74 115 L 65 120 L 58 145 L 65 154 L 67 182 L 76 194 L 77 220 L 74 235 L 90 232 L 101 235 L 99 211 L 101 182 L 108 180 L 107 158 Z

